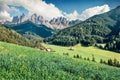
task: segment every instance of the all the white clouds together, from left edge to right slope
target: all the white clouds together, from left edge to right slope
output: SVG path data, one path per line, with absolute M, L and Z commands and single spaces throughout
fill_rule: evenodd
M 12 5 L 13 7 L 9 7 Z M 46 3 L 42 0 L 0 0 L 0 20 L 11 20 L 10 12 L 20 13 L 15 6 L 22 6 L 28 10 L 29 15 L 37 13 L 50 20 L 57 17 L 66 17 L 69 20 L 86 20 L 94 15 L 102 14 L 110 10 L 110 7 L 106 5 L 95 6 L 84 10 L 79 14 L 76 10 L 73 13 L 66 13 L 58 9 L 54 4 Z

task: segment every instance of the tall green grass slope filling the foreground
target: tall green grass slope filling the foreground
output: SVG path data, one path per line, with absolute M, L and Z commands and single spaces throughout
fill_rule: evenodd
M 0 42 L 0 80 L 119 80 L 120 69 Z

